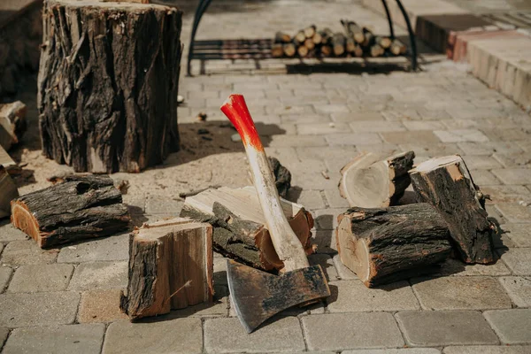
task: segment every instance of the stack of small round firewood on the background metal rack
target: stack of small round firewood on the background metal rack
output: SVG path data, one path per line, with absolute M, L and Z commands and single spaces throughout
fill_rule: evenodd
M 397 39 L 374 35 L 354 21 L 342 19 L 343 32 L 306 27 L 293 37 L 277 32 L 271 49 L 273 58 L 389 57 L 404 55 L 406 46 Z

